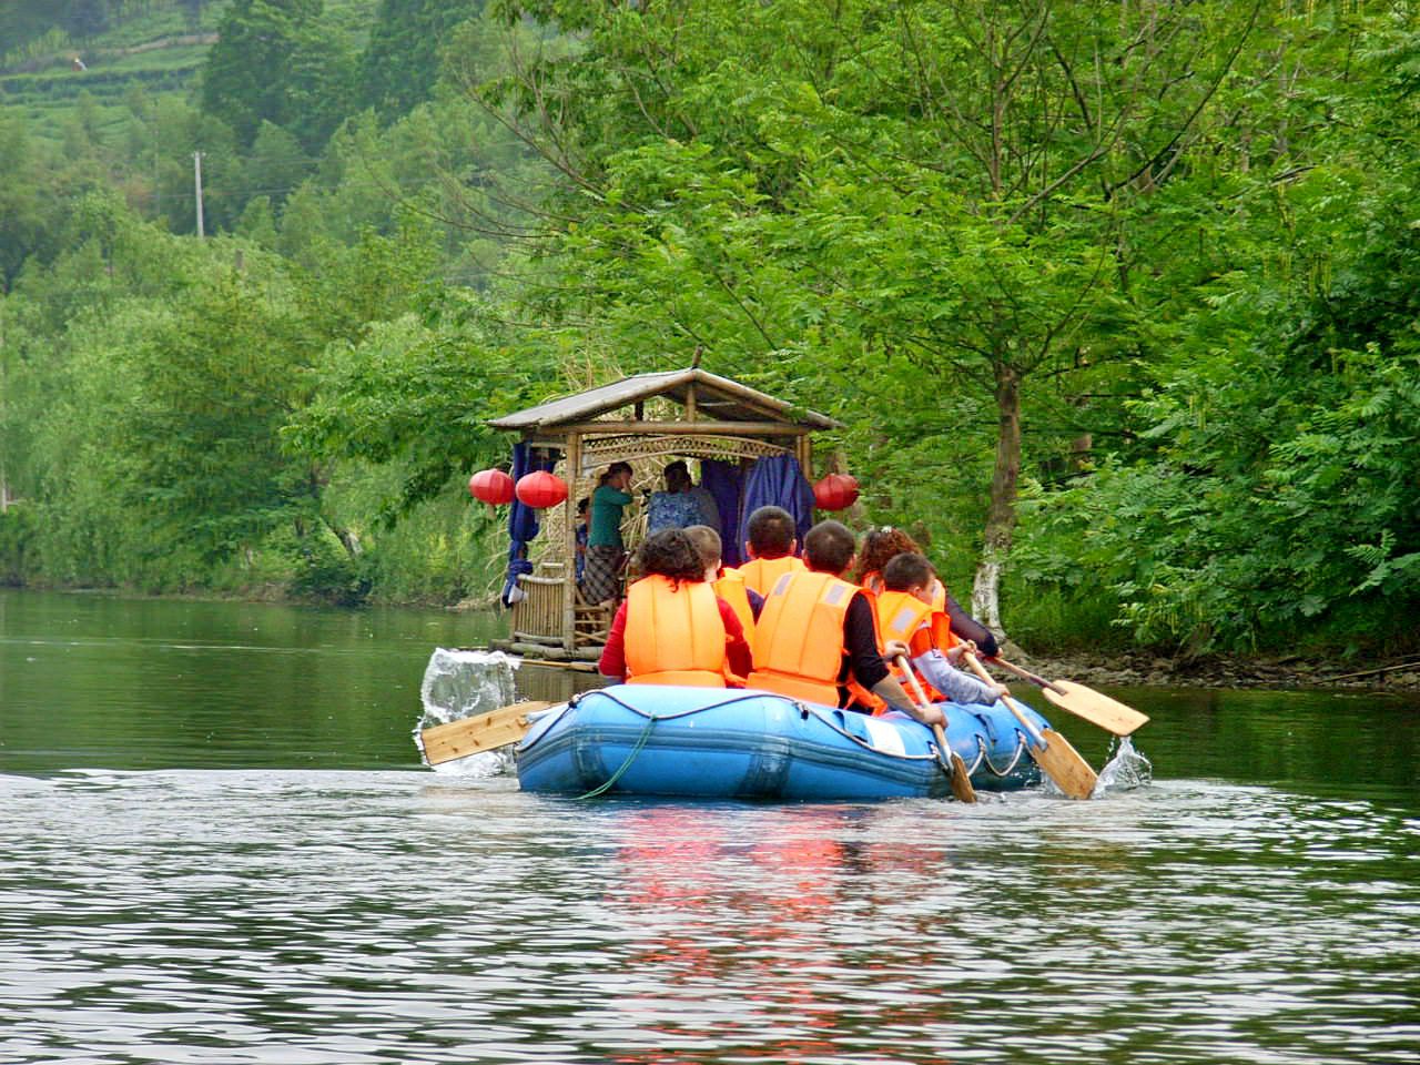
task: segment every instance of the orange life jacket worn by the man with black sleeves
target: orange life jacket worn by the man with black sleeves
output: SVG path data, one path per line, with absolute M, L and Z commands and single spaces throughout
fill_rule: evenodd
M 754 670 L 747 686 L 838 706 L 838 674 L 846 653 L 843 619 L 859 592 L 861 588 L 832 574 L 805 569 L 780 577 L 764 598 L 754 628 Z M 882 650 L 882 638 L 878 649 Z M 865 706 L 882 703 L 852 679 L 848 689 Z

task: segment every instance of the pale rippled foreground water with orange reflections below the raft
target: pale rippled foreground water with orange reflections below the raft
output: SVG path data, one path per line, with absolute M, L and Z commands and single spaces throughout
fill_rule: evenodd
M 0 1059 L 1413 1061 L 1420 822 L 0 777 Z

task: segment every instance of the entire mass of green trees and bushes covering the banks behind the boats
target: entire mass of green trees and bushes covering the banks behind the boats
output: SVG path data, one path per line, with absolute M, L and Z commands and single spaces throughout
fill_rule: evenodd
M 0 71 L 0 579 L 486 594 L 481 420 L 700 349 L 1025 646 L 1417 646 L 1411 4 L 88 7 L 219 40 Z

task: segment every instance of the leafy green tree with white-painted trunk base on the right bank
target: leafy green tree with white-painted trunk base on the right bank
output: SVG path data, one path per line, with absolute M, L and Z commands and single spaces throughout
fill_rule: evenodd
M 565 179 L 544 312 L 616 348 L 736 352 L 818 406 L 805 375 L 853 381 L 853 406 L 922 412 L 888 447 L 990 410 L 974 601 L 998 625 L 1028 382 L 1088 392 L 1132 354 L 1122 220 L 1260 9 L 507 3 L 585 47 L 483 98 Z M 893 373 L 863 382 L 865 361 Z

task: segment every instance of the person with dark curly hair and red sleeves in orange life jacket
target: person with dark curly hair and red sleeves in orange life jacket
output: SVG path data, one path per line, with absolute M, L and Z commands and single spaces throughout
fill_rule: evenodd
M 596 669 L 630 684 L 724 687 L 750 672 L 750 643 L 734 609 L 706 584 L 684 530 L 646 537 L 642 579 L 626 591 Z

